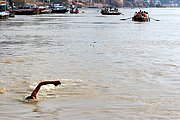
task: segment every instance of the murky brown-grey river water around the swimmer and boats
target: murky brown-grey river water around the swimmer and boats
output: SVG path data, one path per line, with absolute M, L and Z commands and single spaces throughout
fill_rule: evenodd
M 99 10 L 0 21 L 1 120 L 180 119 L 180 9 Z M 24 100 L 43 80 L 62 85 Z

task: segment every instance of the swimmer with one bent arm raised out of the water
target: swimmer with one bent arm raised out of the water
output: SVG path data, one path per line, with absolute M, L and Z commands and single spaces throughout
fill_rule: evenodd
M 29 99 L 37 99 L 37 93 L 40 90 L 42 85 L 47 85 L 47 84 L 54 84 L 55 86 L 61 85 L 61 82 L 59 80 L 57 81 L 42 81 L 38 84 L 38 86 L 33 90 L 30 96 L 25 97 L 26 100 Z

